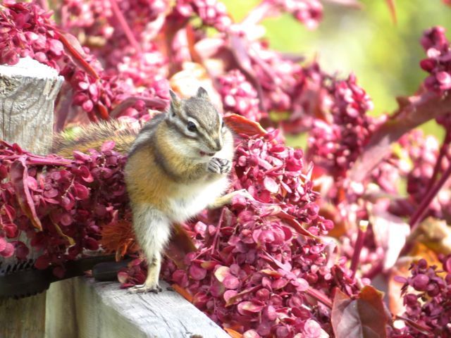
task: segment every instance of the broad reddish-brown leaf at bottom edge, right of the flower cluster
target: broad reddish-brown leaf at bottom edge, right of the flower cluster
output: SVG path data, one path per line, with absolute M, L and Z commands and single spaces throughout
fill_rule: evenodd
M 373 287 L 362 289 L 358 299 L 337 290 L 333 299 L 331 322 L 337 338 L 387 337 L 385 325 L 388 322 L 383 306 L 383 294 Z

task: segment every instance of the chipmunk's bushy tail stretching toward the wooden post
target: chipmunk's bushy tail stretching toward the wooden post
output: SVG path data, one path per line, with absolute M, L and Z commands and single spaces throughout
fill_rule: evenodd
M 66 158 L 73 157 L 73 151 L 87 152 L 89 149 L 99 150 L 106 141 L 116 142 L 114 150 L 126 154 L 140 130 L 135 123 L 112 119 L 91 123 L 82 127 L 56 134 L 52 152 Z

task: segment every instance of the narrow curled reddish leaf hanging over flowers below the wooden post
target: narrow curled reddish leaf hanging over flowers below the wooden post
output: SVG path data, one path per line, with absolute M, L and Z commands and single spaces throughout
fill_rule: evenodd
M 39 230 L 42 230 L 41 221 L 37 217 L 35 210 L 35 203 L 33 202 L 30 190 L 28 189 L 27 182 L 28 172 L 25 165 L 25 158 L 20 157 L 17 161 L 11 164 L 11 170 L 9 173 L 11 177 L 11 184 L 13 184 L 16 191 L 16 198 L 19 202 L 22 211 L 30 218 L 32 224 Z

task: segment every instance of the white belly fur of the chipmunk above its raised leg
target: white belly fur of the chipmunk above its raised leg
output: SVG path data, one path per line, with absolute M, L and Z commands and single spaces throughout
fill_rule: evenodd
M 205 184 L 185 184 L 177 199 L 169 201 L 168 217 L 177 223 L 185 222 L 212 204 L 228 188 L 228 177 Z

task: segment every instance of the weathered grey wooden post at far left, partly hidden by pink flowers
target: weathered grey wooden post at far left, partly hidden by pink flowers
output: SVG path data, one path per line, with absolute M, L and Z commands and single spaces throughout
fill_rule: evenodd
M 63 84 L 54 68 L 31 58 L 0 65 L 0 139 L 17 143 L 35 154 L 51 149 L 54 102 Z M 27 242 L 25 237 L 20 240 Z M 30 258 L 36 253 L 31 252 Z M 0 269 L 13 265 L 0 258 Z M 0 337 L 44 337 L 46 294 L 0 300 Z

